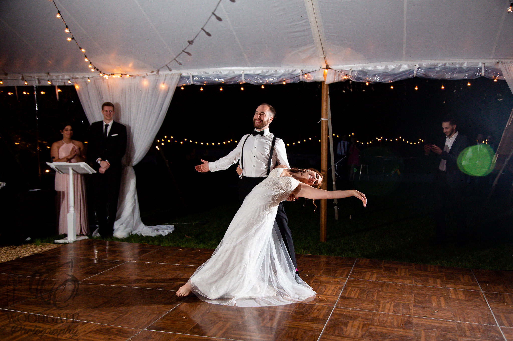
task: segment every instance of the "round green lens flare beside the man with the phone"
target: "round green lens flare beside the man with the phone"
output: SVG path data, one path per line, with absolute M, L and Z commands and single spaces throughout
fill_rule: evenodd
M 458 155 L 458 168 L 472 176 L 488 175 L 494 155 L 494 150 L 486 144 L 467 147 Z

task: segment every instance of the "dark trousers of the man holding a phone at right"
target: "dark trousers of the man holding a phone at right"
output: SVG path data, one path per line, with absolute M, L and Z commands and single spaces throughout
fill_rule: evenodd
M 446 173 L 437 171 L 434 179 L 435 186 L 435 224 L 437 237 L 447 238 L 447 227 L 445 221 L 446 202 L 449 201 L 454 210 L 456 218 L 457 237 L 464 238 L 466 233 L 465 208 L 462 201 L 463 188 L 451 188 L 447 184 Z

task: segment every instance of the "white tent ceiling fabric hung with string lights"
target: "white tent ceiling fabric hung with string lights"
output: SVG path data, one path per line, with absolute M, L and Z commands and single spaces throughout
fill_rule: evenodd
M 168 72 L 164 65 L 199 32 L 217 0 L 55 4 L 104 73 L 151 75 Z M 22 85 L 21 75 L 30 85 L 35 76 L 55 84 L 98 76 L 66 40 L 51 1 L 0 6 L 4 85 Z M 192 56 L 182 54 L 182 65 L 169 67 L 182 74 L 179 84 L 319 81 L 324 63 L 357 81 L 475 78 L 482 71 L 496 77 L 499 61 L 513 61 L 508 6 L 509 0 L 222 0 L 215 14 L 223 20 L 212 17 L 205 27 L 212 36 L 200 33 L 187 48 Z M 345 80 L 337 74 L 329 79 Z

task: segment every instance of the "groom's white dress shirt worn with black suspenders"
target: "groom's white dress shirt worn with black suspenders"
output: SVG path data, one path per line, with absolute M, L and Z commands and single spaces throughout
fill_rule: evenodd
M 256 129 L 255 129 L 256 130 Z M 208 168 L 211 172 L 224 170 L 237 162 L 241 157 L 242 145 L 244 145 L 244 160 L 242 175 L 249 177 L 263 177 L 267 175 L 267 163 L 272 144 L 273 134 L 269 128 L 263 130 L 264 135 L 247 134 L 239 141 L 239 144 L 228 155 L 221 157 L 218 161 L 209 162 Z M 248 137 L 249 135 L 249 137 Z M 240 164 L 240 163 L 239 163 Z M 290 168 L 287 160 L 287 151 L 282 139 L 276 139 L 274 143 L 274 152 L 272 153 L 271 170 L 274 166 L 285 165 Z

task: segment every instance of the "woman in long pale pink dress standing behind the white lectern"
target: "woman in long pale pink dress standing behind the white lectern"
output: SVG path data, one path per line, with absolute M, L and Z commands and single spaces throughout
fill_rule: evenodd
M 63 123 L 61 125 L 61 134 L 63 139 L 54 142 L 50 149 L 52 162 L 85 162 L 86 154 L 84 144 L 80 141 L 72 140 L 73 128 L 71 124 Z M 55 173 L 55 191 L 57 225 L 59 234 L 68 233 L 68 184 L 69 174 Z M 89 222 L 87 217 L 86 186 L 82 174 L 73 174 L 73 189 L 76 212 L 75 234 L 89 234 Z

